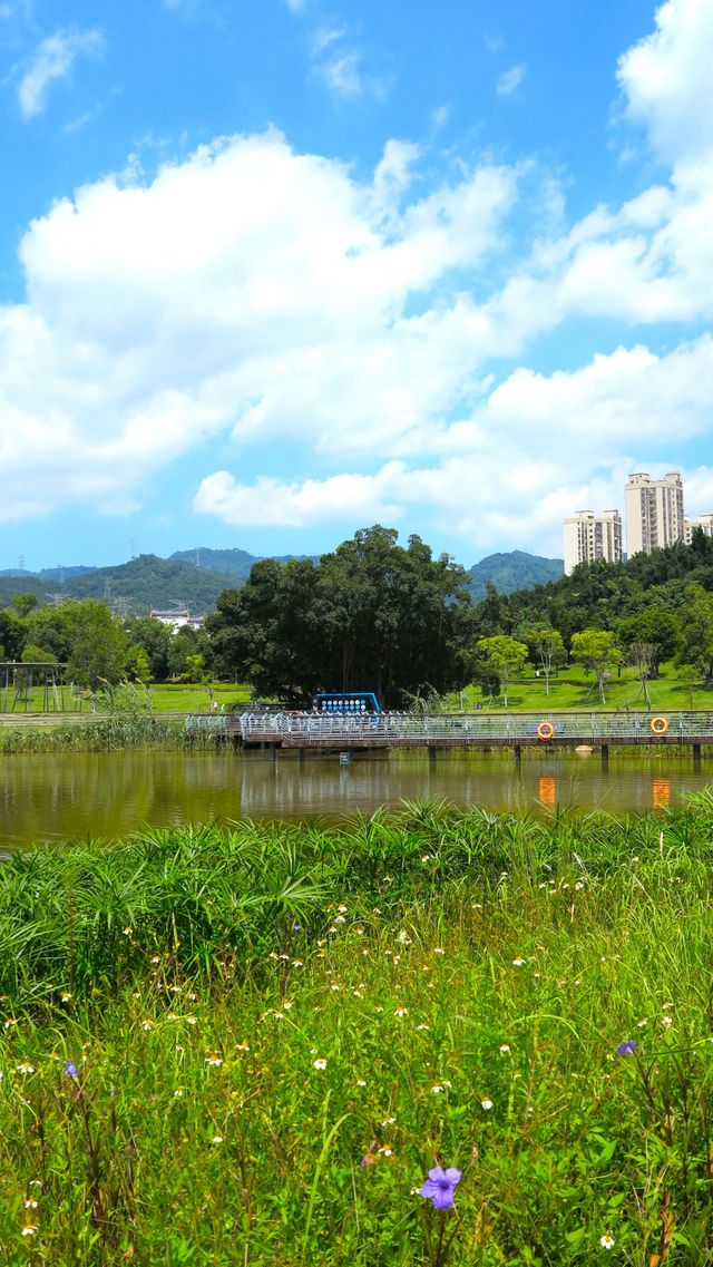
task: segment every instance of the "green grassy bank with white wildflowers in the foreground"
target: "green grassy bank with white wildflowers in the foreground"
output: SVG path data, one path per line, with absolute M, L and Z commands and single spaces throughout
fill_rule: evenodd
M 13 856 L 0 1263 L 710 1261 L 712 864 L 710 789 Z

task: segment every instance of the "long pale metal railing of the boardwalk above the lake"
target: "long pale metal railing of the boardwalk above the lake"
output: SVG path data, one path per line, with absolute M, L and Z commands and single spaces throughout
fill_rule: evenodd
M 538 727 L 552 727 L 548 742 L 656 744 L 713 742 L 713 712 L 472 713 L 423 717 L 413 713 L 243 713 L 229 730 L 243 744 L 282 748 L 427 748 L 539 744 Z M 662 718 L 662 721 L 661 721 Z M 218 720 L 218 718 L 217 718 Z M 657 729 L 656 729 L 657 727 Z M 547 731 L 548 734 L 548 731 Z

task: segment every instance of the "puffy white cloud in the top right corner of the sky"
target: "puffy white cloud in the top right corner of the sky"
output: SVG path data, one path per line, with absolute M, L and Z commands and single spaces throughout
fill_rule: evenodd
M 627 113 L 665 161 L 698 158 L 713 146 L 712 66 L 710 0 L 662 4 L 655 32 L 619 58 Z

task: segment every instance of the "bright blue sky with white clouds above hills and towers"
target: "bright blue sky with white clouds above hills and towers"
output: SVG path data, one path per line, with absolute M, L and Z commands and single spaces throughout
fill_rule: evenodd
M 0 566 L 713 511 L 709 0 L 0 0 Z

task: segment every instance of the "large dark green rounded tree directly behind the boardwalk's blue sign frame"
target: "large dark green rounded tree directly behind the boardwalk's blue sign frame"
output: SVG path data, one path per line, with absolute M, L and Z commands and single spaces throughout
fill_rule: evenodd
M 260 696 L 308 704 L 317 689 L 375 691 L 386 706 L 464 684 L 467 575 L 419 537 L 379 525 L 319 564 L 262 560 L 208 628 L 220 668 Z

